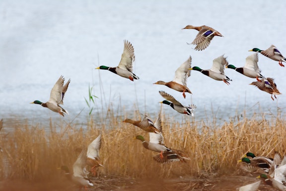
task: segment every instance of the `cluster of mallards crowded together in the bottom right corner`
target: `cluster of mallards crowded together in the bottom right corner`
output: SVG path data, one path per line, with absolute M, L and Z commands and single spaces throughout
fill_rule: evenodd
M 253 153 L 246 155 L 239 160 L 242 162 L 240 169 L 251 176 L 262 179 L 267 185 L 278 191 L 286 191 L 286 156 L 283 158 L 275 153 L 274 158 L 266 156 L 255 156 Z M 261 181 L 242 187 L 239 191 L 257 191 Z M 248 188 L 249 190 L 243 190 Z

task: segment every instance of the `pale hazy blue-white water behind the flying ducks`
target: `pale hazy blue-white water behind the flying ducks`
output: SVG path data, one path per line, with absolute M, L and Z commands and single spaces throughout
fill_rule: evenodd
M 286 68 L 261 54 L 262 74 L 274 78 L 282 93 L 275 101 L 249 85 L 255 79 L 231 69 L 225 69 L 233 80 L 229 86 L 192 71 L 187 85 L 193 95 L 186 94 L 186 99 L 153 83 L 173 80 L 190 55 L 192 66 L 202 69 L 210 69 L 214 58 L 223 54 L 229 64 L 242 67 L 253 54 L 248 50 L 271 44 L 286 56 L 285 10 L 285 0 L 0 0 L 0 117 L 85 123 L 89 85 L 98 96 L 92 105 L 95 118 L 104 117 L 110 103 L 131 114 L 138 106 L 142 114 L 155 118 L 163 100 L 160 90 L 184 105 L 196 104 L 196 120 L 214 116 L 228 120 L 244 110 L 247 117 L 255 111 L 275 115 L 278 109 L 284 114 Z M 215 36 L 207 49 L 195 51 L 186 42 L 198 32 L 181 30 L 188 24 L 211 26 L 224 37 Z M 135 49 L 134 73 L 140 77 L 135 82 L 94 69 L 117 66 L 125 39 Z M 29 104 L 36 99 L 46 102 L 61 75 L 71 79 L 63 105 L 70 115 L 63 118 Z M 171 116 L 191 118 L 168 105 L 163 109 Z

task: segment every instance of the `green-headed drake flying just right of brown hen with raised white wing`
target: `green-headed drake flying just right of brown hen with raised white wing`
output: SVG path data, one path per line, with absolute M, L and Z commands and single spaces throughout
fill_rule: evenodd
M 226 57 L 223 57 L 222 55 L 213 60 L 213 66 L 211 69 L 202 70 L 201 68 L 195 66 L 193 68 L 189 68 L 189 70 L 199 71 L 214 80 L 223 81 L 225 84 L 229 85 L 228 81 L 232 80 L 230 80 L 227 76 L 224 75 L 225 65 L 228 65 L 228 62 L 226 61 Z

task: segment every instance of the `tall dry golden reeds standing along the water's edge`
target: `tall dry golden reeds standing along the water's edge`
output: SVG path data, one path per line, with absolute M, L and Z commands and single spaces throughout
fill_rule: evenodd
M 90 118 L 86 128 L 81 125 L 54 123 L 49 130 L 38 125 L 15 124 L 12 132 L 0 134 L 0 178 L 49 180 L 62 176 L 58 167 L 72 168 L 80 150 L 102 133 L 100 150 L 104 168 L 100 175 L 146 178 L 156 176 L 202 176 L 233 173 L 237 160 L 246 152 L 273 156 L 274 151 L 285 154 L 286 121 L 284 117 L 271 119 L 233 118 L 223 125 L 198 122 L 190 116 L 175 121 L 162 113 L 165 145 L 183 150 L 191 161 L 160 164 L 152 159 L 157 154 L 143 148 L 133 139 L 148 133 L 131 124 L 122 123 L 123 116 L 108 111 L 100 120 Z M 134 116 L 139 119 L 139 112 Z M 154 120 L 156 115 L 150 116 Z M 5 121 L 5 120 L 4 120 Z M 44 130 L 46 129 L 46 130 Z

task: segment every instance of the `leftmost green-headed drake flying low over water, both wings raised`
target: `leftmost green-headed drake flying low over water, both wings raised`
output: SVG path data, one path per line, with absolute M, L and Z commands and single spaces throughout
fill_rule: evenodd
M 54 85 L 51 91 L 50 99 L 47 102 L 43 103 L 39 100 L 35 100 L 31 103 L 36 103 L 36 104 L 42 105 L 43 107 L 48 107 L 52 111 L 60 113 L 62 116 L 64 116 L 64 114 L 68 115 L 69 112 L 65 110 L 63 107 L 61 107 L 60 104 L 64 104 L 63 99 L 68 90 L 71 80 L 69 80 L 65 84 L 65 86 L 64 86 L 64 81 L 65 81 L 64 77 L 61 76 L 59 80 L 56 82 L 56 84 Z

